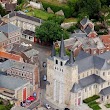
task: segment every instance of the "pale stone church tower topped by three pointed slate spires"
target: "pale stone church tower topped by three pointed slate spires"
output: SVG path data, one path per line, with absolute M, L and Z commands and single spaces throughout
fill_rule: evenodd
M 59 54 L 53 45 L 51 56 L 47 59 L 46 95 L 59 104 L 70 103 L 70 90 L 78 82 L 78 68 L 74 64 L 73 53 L 66 55 L 63 38 Z

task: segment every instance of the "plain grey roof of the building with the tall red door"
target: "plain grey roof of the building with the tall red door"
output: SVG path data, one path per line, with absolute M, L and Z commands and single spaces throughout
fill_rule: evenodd
M 26 83 L 28 83 L 28 81 L 22 80 L 21 78 L 15 78 L 12 76 L 0 75 L 0 87 L 2 87 L 2 88 L 15 90 L 18 87 L 21 87 Z

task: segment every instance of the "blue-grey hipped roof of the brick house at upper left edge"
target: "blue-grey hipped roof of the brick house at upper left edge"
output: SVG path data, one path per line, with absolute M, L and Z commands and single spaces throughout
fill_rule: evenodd
M 7 34 L 14 32 L 14 31 L 17 31 L 19 29 L 20 29 L 19 27 L 15 26 L 13 24 L 10 24 L 10 23 L 7 23 L 5 25 L 0 26 L 0 31 L 7 33 Z

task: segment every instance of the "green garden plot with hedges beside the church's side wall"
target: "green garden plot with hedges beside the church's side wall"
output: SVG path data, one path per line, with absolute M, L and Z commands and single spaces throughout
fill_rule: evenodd
M 96 100 L 99 98 L 100 98 L 100 96 L 94 95 L 92 97 L 89 97 L 89 98 L 83 100 L 83 102 L 86 103 L 93 110 L 101 110 L 99 103 L 96 102 Z

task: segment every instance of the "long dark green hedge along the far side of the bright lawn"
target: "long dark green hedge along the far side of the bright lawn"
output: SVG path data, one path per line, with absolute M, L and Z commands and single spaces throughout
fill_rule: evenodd
M 72 14 L 71 9 L 67 5 L 58 6 L 55 4 L 48 3 L 48 2 L 42 2 L 42 5 L 45 10 L 47 10 L 48 7 L 50 7 L 54 12 L 62 10 L 66 18 L 71 17 L 71 14 Z

